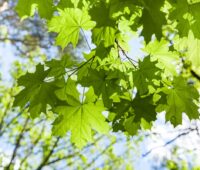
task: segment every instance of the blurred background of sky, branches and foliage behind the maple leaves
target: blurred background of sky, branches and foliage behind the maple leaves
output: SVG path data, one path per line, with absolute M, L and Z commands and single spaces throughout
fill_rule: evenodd
M 80 37 L 77 49 L 64 51 L 54 46 L 53 33 L 37 15 L 20 21 L 14 11 L 17 0 L 0 0 L 0 169 L 4 170 L 200 170 L 200 122 L 184 116 L 175 129 L 159 114 L 151 131 L 128 137 L 115 132 L 95 135 L 82 150 L 70 143 L 70 136 L 51 136 L 52 113 L 31 119 L 26 108 L 12 107 L 19 92 L 17 78 L 33 72 L 37 63 L 71 55 L 77 60 L 87 52 Z M 86 33 L 90 42 L 90 33 Z M 131 40 L 132 55 L 141 57 L 142 39 Z

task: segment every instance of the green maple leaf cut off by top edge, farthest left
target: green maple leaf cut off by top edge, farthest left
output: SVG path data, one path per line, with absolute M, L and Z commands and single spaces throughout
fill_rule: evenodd
M 19 0 L 15 10 L 24 19 L 33 16 L 35 10 L 42 18 L 50 19 L 53 15 L 53 0 Z

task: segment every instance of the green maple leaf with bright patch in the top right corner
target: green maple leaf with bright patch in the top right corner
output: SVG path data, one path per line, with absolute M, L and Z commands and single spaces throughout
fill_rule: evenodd
M 196 38 L 200 38 L 200 3 L 190 4 L 187 0 L 171 1 L 173 10 L 169 18 L 177 21 L 177 29 L 181 36 L 187 36 L 192 30 Z

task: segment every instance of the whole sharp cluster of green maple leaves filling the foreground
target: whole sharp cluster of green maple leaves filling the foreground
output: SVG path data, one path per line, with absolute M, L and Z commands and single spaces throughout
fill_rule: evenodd
M 199 1 L 45 2 L 50 6 L 19 0 L 16 11 L 23 19 L 37 11 L 62 49 L 69 43 L 76 48 L 81 32 L 90 52 L 81 62 L 73 57 L 67 60 L 72 65 L 47 61 L 20 77 L 24 89 L 15 106 L 28 104 L 31 117 L 52 110 L 54 134 L 70 131 L 78 147 L 92 141 L 93 130 L 106 132 L 108 125 L 130 135 L 151 128 L 163 111 L 174 126 L 182 123 L 183 113 L 199 118 Z M 92 33 L 93 49 L 85 30 Z M 127 53 L 134 33 L 144 37 L 143 59 Z

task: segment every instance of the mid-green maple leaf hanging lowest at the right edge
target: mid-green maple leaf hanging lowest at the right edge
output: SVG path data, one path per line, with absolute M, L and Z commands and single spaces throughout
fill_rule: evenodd
M 190 119 L 198 119 L 198 106 L 194 103 L 199 98 L 198 91 L 182 77 L 174 78 L 172 84 L 173 87 L 165 91 L 167 105 L 162 107 L 166 110 L 166 120 L 177 126 L 182 123 L 182 113 Z

